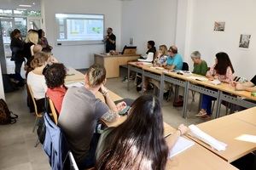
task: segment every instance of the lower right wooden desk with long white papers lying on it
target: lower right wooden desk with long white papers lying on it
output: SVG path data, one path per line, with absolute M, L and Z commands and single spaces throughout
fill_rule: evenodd
M 236 161 L 242 156 L 246 156 L 248 153 L 256 150 L 256 144 L 236 139 L 242 134 L 256 135 L 256 127 L 232 116 L 223 116 L 209 122 L 201 123 L 197 127 L 201 128 L 202 131 L 208 133 L 213 138 L 228 144 L 226 150 L 214 150 L 208 144 L 201 142 L 201 140 L 192 137 L 189 138 L 195 140 L 195 142 L 201 144 L 207 150 L 211 150 L 225 161 Z

